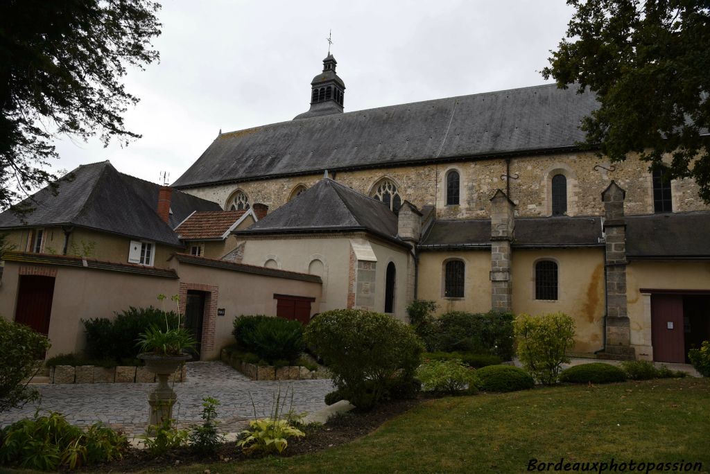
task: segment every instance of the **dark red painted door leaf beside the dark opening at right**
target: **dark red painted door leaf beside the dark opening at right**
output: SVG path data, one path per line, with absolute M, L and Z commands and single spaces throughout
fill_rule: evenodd
M 685 362 L 682 294 L 651 295 L 653 360 Z

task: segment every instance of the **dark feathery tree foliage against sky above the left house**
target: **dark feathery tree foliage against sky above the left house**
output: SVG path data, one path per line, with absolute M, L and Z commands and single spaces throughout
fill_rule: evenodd
M 138 98 L 119 79 L 128 66 L 158 60 L 159 8 L 148 0 L 0 2 L 0 209 L 56 180 L 45 168 L 59 158 L 56 136 L 98 134 L 104 146 L 141 137 L 124 126 L 121 114 Z

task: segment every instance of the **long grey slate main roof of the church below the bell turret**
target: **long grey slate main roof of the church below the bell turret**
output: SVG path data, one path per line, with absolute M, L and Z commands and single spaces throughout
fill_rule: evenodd
M 597 107 L 550 84 L 274 123 L 222 133 L 173 185 L 564 150 Z

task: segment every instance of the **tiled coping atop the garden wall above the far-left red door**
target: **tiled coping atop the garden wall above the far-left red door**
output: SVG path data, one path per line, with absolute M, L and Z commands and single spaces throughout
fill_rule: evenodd
M 172 268 L 155 268 L 133 263 L 114 263 L 95 258 L 82 258 L 70 255 L 48 255 L 46 253 L 6 252 L 3 260 L 10 262 L 35 263 L 39 265 L 60 265 L 62 267 L 88 268 L 89 270 L 105 270 L 109 272 L 132 273 L 148 277 L 178 278 L 178 273 Z

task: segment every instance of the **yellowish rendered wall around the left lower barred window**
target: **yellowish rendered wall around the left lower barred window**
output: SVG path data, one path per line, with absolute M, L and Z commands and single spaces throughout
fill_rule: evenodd
M 464 297 L 444 297 L 444 262 L 464 261 Z M 437 314 L 449 311 L 484 313 L 491 310 L 491 250 L 424 252 L 419 259 L 417 298 L 437 302 Z

